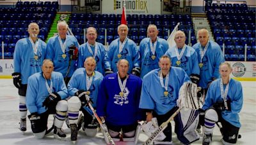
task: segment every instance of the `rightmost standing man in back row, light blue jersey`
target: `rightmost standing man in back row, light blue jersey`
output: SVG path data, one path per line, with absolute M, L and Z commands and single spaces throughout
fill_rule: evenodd
M 225 61 L 218 43 L 209 40 L 209 31 L 200 29 L 198 31 L 199 42 L 193 45 L 198 55 L 198 66 L 200 67 L 199 86 L 202 87 L 202 94 L 214 79 L 220 78 L 219 66 Z

